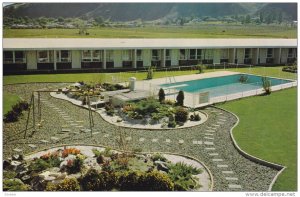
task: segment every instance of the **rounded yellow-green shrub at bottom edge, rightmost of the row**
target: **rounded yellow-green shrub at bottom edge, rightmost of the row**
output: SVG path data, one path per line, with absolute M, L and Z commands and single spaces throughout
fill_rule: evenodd
M 174 183 L 166 174 L 158 171 L 144 173 L 139 180 L 141 191 L 173 191 Z

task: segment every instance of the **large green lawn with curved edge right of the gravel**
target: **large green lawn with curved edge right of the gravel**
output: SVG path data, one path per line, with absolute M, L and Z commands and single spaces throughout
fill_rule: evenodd
M 235 113 L 238 145 L 256 157 L 287 166 L 274 191 L 297 190 L 297 89 L 228 102 L 220 107 Z

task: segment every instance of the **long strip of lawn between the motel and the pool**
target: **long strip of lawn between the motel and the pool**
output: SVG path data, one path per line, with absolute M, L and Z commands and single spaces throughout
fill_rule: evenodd
M 255 67 L 255 68 L 232 68 L 229 71 L 244 72 L 257 75 L 268 75 L 273 77 L 296 79 L 297 75 L 288 72 L 282 72 L 282 67 Z M 222 71 L 223 69 L 209 69 L 205 72 Z M 179 76 L 197 73 L 197 70 L 186 71 L 159 71 L 154 73 L 154 78 L 166 76 Z M 146 72 L 122 72 L 122 73 L 78 73 L 78 74 L 41 74 L 41 75 L 12 75 L 4 76 L 4 84 L 28 83 L 28 82 L 112 82 L 112 79 L 128 81 L 129 77 L 136 77 L 138 80 L 146 78 Z

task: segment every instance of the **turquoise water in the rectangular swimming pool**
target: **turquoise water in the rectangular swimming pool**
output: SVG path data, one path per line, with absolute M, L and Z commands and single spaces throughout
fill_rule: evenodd
M 241 83 L 240 78 L 244 76 L 246 82 Z M 267 77 L 271 81 L 271 86 L 285 84 L 290 80 Z M 189 93 L 209 92 L 210 97 L 235 94 L 238 92 L 256 90 L 262 87 L 262 77 L 248 74 L 236 74 L 222 77 L 183 81 L 171 84 L 163 84 L 161 87 L 174 88 Z

